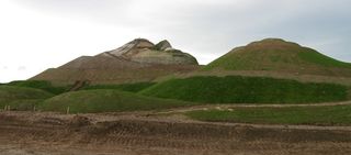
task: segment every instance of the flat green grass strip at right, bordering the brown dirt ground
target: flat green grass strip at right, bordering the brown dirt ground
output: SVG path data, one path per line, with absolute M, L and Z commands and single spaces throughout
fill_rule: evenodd
M 228 110 L 191 111 L 185 115 L 212 122 L 350 125 L 351 106 L 299 108 L 235 108 Z

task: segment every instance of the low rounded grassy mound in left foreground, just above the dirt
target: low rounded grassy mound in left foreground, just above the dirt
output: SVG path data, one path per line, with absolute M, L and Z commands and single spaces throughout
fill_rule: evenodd
M 118 90 L 99 89 L 63 93 L 45 100 L 38 108 L 44 111 L 65 112 L 69 107 L 71 113 L 97 113 L 157 110 L 189 104 L 192 103 L 155 99 Z

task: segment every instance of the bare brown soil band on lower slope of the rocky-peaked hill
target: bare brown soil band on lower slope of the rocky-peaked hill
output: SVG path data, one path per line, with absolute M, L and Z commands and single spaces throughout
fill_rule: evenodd
M 126 84 L 151 81 L 173 74 L 197 70 L 193 65 L 152 65 L 139 68 L 52 68 L 31 78 L 31 80 L 49 80 L 59 84 L 75 84 L 77 80 L 90 80 L 91 84 Z

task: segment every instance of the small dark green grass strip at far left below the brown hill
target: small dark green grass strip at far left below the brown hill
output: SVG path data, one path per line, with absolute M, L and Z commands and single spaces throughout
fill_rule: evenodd
M 69 89 L 69 86 L 57 87 L 57 86 L 53 86 L 50 81 L 46 81 L 46 80 L 18 80 L 18 81 L 11 81 L 7 84 L 7 86 L 36 88 L 54 95 L 63 93 Z

